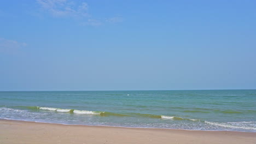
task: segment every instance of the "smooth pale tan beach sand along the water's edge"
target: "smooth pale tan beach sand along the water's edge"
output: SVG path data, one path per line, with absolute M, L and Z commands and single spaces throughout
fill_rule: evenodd
M 256 133 L 120 128 L 0 120 L 0 143 L 256 143 Z

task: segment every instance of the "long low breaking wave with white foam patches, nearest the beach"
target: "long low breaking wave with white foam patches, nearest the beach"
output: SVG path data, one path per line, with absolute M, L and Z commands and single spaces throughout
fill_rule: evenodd
M 18 106 L 14 106 L 14 107 L 18 107 Z M 156 118 L 156 119 L 162 119 L 164 121 L 173 121 L 173 122 L 180 121 L 181 123 L 186 123 L 185 121 L 190 121 L 189 122 L 190 124 L 205 125 L 206 127 L 212 128 L 214 130 L 223 129 L 223 128 L 231 129 L 231 130 L 237 130 L 237 129 L 243 129 L 243 130 L 249 130 L 249 131 L 256 130 L 256 122 L 255 121 L 210 122 L 210 121 L 203 121 L 200 119 L 190 119 L 190 118 L 183 118 L 183 117 L 177 117 L 177 116 L 152 115 L 152 114 L 144 114 L 144 113 L 113 113 L 113 112 L 104 112 L 104 111 L 60 109 L 60 108 L 55 108 L 55 107 L 39 107 L 39 106 L 19 106 L 19 109 L 12 109 L 14 107 L 11 107 L 11 108 L 10 107 L 0 107 L 0 111 L 3 114 L 0 118 L 15 119 L 12 116 L 9 116 L 10 113 L 13 113 L 15 115 L 20 115 L 21 119 L 27 118 L 27 117 L 38 117 L 39 116 L 39 115 L 37 115 L 38 111 L 42 111 L 42 112 L 44 111 L 44 114 L 46 114 L 46 115 L 47 115 L 46 111 L 51 111 L 51 112 L 56 112 L 56 113 L 58 113 L 58 112 L 66 113 L 64 115 L 69 114 L 69 115 L 76 115 L 76 116 L 78 116 L 78 115 L 94 115 L 94 116 L 100 116 L 100 117 L 109 117 L 109 116 L 135 117 L 135 118 L 141 117 L 141 118 Z M 7 116 L 7 117 L 5 117 L 5 116 Z

